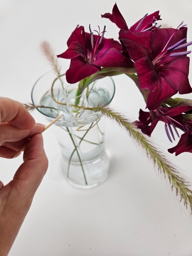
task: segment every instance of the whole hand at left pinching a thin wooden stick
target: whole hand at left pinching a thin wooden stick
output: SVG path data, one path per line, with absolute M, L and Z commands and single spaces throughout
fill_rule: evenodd
M 0 97 L 0 122 L 0 157 L 10 158 L 29 141 L 13 180 L 5 186 L 0 181 L 0 256 L 6 256 L 47 171 L 48 160 L 39 134 L 44 125 L 35 124 L 22 104 Z

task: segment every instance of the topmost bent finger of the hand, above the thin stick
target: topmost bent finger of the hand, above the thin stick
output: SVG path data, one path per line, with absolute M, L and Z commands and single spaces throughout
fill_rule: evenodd
M 34 118 L 20 102 L 4 97 L 0 97 L 1 122 L 9 122 L 20 129 L 31 129 L 35 125 Z

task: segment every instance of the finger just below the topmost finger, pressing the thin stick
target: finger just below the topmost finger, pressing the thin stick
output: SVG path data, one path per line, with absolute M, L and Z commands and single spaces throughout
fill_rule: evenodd
M 21 130 L 8 123 L 3 123 L 0 126 L 0 145 L 4 145 L 6 142 L 20 141 L 26 137 L 30 138 L 33 135 L 40 133 L 44 127 L 44 125 L 36 124 L 32 129 Z

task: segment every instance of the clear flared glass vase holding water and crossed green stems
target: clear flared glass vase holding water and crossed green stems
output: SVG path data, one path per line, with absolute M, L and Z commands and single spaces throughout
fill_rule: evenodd
M 32 89 L 32 102 L 38 111 L 55 123 L 55 135 L 61 146 L 63 174 L 74 186 L 91 188 L 109 174 L 110 158 L 105 150 L 105 119 L 94 106 L 108 105 L 115 85 L 111 77 L 94 81 L 77 99 L 78 84 L 68 84 L 65 76 L 52 72 L 41 76 Z M 78 103 L 78 106 L 76 105 Z

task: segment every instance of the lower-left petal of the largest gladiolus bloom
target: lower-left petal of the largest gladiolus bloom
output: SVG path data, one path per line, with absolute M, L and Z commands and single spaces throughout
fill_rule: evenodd
M 148 57 L 144 57 L 134 62 L 139 79 L 140 89 L 148 89 L 157 84 L 158 75 L 154 70 L 154 66 Z

